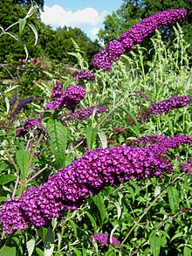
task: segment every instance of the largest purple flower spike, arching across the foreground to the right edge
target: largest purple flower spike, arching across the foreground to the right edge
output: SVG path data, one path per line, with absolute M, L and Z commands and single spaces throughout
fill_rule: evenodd
M 65 210 L 77 209 L 87 196 L 109 184 L 167 175 L 173 169 L 165 154 L 185 143 L 192 144 L 192 137 L 177 135 L 142 149 L 123 146 L 87 151 L 46 183 L 26 190 L 18 199 L 8 199 L 0 211 L 3 230 L 11 233 L 30 224 L 47 225 L 52 217 L 60 218 Z

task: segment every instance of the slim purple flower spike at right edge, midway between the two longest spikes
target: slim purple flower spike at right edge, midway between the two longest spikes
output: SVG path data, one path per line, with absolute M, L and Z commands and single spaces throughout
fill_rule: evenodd
M 137 117 L 138 121 L 145 122 L 147 118 L 151 117 L 153 114 L 163 114 L 168 113 L 171 109 L 177 109 L 185 107 L 191 103 L 191 98 L 188 95 L 177 96 L 168 98 L 166 100 L 160 100 L 156 103 L 153 103 L 147 109 L 141 109 L 139 116 Z

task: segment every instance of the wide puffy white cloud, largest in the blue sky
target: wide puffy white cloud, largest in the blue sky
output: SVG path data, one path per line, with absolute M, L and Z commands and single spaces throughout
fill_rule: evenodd
M 95 26 L 103 22 L 107 11 L 101 13 L 91 7 L 86 7 L 83 10 L 65 10 L 59 5 L 48 7 L 45 5 L 44 11 L 41 12 L 41 19 L 45 24 L 51 24 L 53 28 L 58 26 L 83 27 L 83 25 Z

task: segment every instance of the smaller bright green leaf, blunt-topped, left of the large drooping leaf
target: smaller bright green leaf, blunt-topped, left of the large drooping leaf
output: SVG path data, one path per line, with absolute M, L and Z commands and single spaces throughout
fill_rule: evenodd
M 29 159 L 30 159 L 29 151 L 25 151 L 25 150 L 17 150 L 16 151 L 17 164 L 18 164 L 19 170 L 21 170 L 21 175 L 23 178 L 28 169 Z

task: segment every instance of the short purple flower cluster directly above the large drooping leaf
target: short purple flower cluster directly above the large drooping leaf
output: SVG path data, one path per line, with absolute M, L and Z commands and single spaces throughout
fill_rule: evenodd
M 86 97 L 86 89 L 82 86 L 68 86 L 65 93 L 62 93 L 57 99 L 52 100 L 45 106 L 45 110 L 61 109 L 66 107 L 72 112 L 75 110 L 76 105 Z

